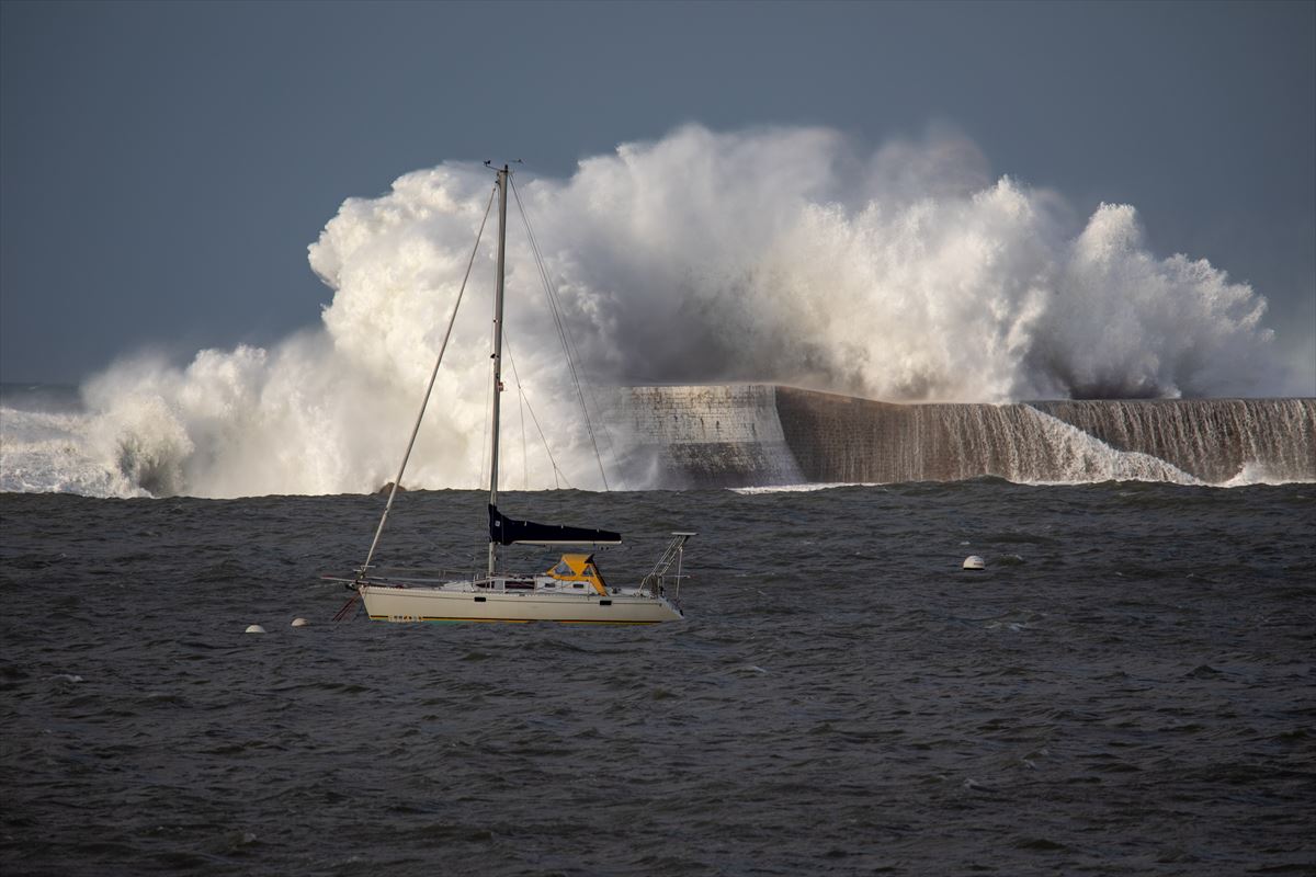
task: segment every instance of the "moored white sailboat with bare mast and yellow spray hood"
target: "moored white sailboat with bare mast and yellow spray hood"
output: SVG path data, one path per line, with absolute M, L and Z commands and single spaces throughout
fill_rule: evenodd
M 490 163 L 486 162 L 486 166 Z M 503 387 L 503 291 L 507 251 L 507 193 L 511 183 L 508 166 L 492 168 L 497 174 L 495 192 L 499 196 L 497 273 L 494 295 L 494 402 L 491 417 L 492 460 L 488 498 L 488 563 L 484 575 L 470 579 L 443 580 L 408 575 L 382 575 L 371 572 L 375 548 L 379 546 L 388 511 L 397 485 L 401 484 L 407 460 L 411 456 L 425 414 L 421 404 L 416 427 L 403 455 L 397 477 L 393 479 L 388 502 L 375 530 L 366 563 L 357 571 L 347 588 L 357 592 L 371 621 L 388 622 L 566 622 L 597 625 L 653 625 L 683 618 L 679 604 L 682 563 L 686 542 L 696 535 L 688 531 L 672 533 L 658 561 L 644 580 L 634 586 L 615 586 L 599 571 L 595 550 L 616 546 L 621 534 L 590 527 L 569 527 L 536 523 L 505 517 L 497 508 L 499 490 L 499 396 Z M 492 202 L 494 195 L 490 195 Z M 486 208 L 486 217 L 488 208 Z M 483 233 L 483 225 L 480 226 Z M 479 234 L 476 235 L 476 249 Z M 474 263 L 475 252 L 471 252 Z M 470 264 L 467 266 L 470 277 Z M 462 289 L 465 291 L 465 281 Z M 458 295 L 458 305 L 461 293 Z M 457 308 L 453 309 L 455 321 Z M 447 335 L 440 350 L 434 373 L 430 375 L 425 401 L 434 387 L 434 375 L 442 362 Z M 561 560 L 538 572 L 515 573 L 501 568 L 499 548 L 505 546 L 549 546 L 563 550 Z M 349 601 L 340 617 L 355 614 L 355 600 Z

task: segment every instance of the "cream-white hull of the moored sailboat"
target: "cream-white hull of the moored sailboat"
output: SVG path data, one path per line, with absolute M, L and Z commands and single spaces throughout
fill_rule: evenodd
M 553 621 L 579 625 L 655 625 L 679 621 L 680 609 L 666 597 L 647 593 L 545 593 L 450 590 L 446 588 L 357 589 L 371 621 L 524 623 Z

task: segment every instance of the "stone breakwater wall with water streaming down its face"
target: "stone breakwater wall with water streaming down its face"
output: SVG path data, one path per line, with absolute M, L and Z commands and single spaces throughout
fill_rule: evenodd
M 653 486 L 1316 481 L 1316 400 L 890 404 L 771 384 L 617 391 L 628 476 Z

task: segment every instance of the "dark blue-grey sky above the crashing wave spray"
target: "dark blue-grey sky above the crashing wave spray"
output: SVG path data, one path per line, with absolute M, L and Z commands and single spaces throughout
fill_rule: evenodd
M 1252 283 L 1316 372 L 1313 11 L 4 0 L 0 379 L 270 343 L 329 301 L 307 245 L 343 199 L 449 159 L 567 176 L 687 121 L 950 124 Z

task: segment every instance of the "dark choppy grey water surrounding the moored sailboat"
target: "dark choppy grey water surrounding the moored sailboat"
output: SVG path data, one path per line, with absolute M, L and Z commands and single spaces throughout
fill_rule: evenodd
M 384 560 L 470 563 L 483 502 L 404 494 Z M 615 581 L 699 530 L 687 621 L 334 625 L 379 497 L 4 494 L 0 868 L 1313 870 L 1313 485 L 504 506 L 557 502 Z

